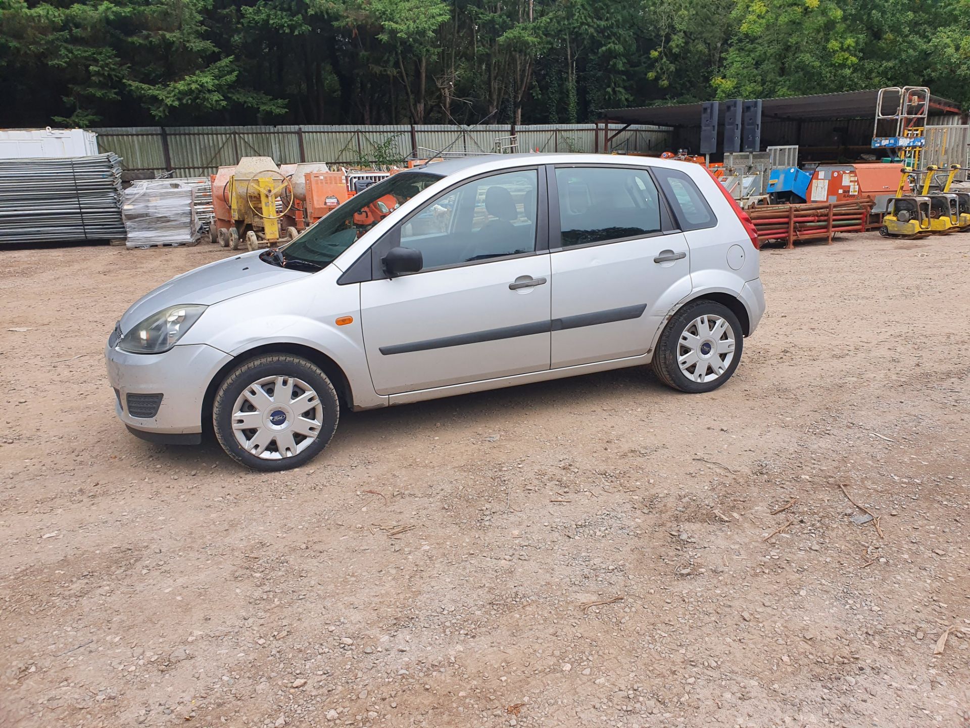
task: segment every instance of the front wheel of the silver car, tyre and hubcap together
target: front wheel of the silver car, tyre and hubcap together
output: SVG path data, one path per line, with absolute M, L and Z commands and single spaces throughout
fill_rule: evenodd
M 243 362 L 222 381 L 212 428 L 222 449 L 247 468 L 289 470 L 327 447 L 339 414 L 323 370 L 299 356 L 268 354 Z

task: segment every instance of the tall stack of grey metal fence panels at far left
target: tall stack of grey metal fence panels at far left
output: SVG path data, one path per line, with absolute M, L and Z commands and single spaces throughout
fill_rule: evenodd
M 120 162 L 113 153 L 0 159 L 0 244 L 123 240 Z

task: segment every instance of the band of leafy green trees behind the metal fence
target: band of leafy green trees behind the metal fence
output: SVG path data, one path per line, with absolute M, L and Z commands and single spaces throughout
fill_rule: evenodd
M 968 0 L 0 0 L 12 126 L 577 122 L 903 84 L 970 104 Z

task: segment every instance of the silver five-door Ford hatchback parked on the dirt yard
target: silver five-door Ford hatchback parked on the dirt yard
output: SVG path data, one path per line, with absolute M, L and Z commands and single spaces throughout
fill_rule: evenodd
M 763 311 L 754 226 L 704 167 L 467 157 L 168 281 L 106 357 L 133 434 L 197 444 L 211 422 L 231 457 L 283 470 L 327 446 L 341 408 L 644 364 L 707 392 Z

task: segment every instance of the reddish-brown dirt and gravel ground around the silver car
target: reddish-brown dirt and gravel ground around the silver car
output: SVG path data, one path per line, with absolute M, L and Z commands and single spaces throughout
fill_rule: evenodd
M 113 413 L 115 319 L 225 254 L 0 250 L 0 725 L 970 725 L 970 235 L 762 251 L 711 394 L 344 414 L 279 475 Z

